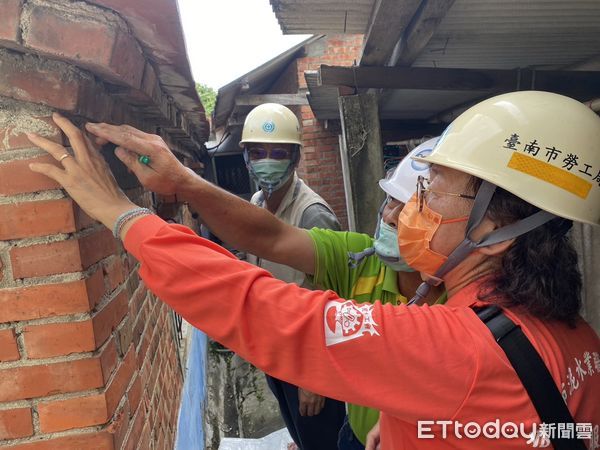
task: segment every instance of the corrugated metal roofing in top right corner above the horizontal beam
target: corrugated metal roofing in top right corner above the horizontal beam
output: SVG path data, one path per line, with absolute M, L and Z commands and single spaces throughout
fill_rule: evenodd
M 413 66 L 553 69 L 594 56 L 598 0 L 457 0 Z

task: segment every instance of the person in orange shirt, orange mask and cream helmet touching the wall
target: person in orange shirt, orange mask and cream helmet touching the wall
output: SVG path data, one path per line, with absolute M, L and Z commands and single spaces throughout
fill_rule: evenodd
M 600 223 L 600 118 L 584 105 L 547 92 L 493 97 L 459 116 L 420 158 L 432 163 L 430 180 L 420 180 L 400 212 L 398 242 L 428 285 L 444 282 L 448 302 L 434 306 L 356 304 L 282 283 L 137 208 L 90 141 L 66 119 L 55 121 L 74 155 L 31 136 L 64 167 L 32 170 L 113 228 L 148 287 L 265 372 L 380 410 L 382 449 L 525 449 L 547 446 L 550 434 L 578 438 L 561 448 L 598 448 L 600 339 L 578 315 L 581 279 L 566 234 L 572 220 Z M 141 180 L 169 152 L 130 128 L 88 130 L 145 157 L 128 160 Z M 203 195 L 192 173 L 177 182 Z M 225 193 L 220 200 L 229 205 Z M 261 214 L 243 212 L 249 223 Z M 229 208 L 221 214 L 234 217 Z M 282 226 L 275 221 L 261 232 Z M 416 303 L 426 290 L 417 290 Z M 540 424 L 475 312 L 489 304 L 523 330 L 576 423 Z

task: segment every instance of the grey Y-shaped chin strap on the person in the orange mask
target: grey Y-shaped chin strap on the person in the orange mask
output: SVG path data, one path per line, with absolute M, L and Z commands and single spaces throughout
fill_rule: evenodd
M 439 286 L 443 282 L 444 275 L 458 266 L 473 250 L 516 238 L 557 217 L 547 211 L 538 211 L 525 219 L 497 228 L 482 237 L 478 242 L 474 242 L 471 239 L 471 233 L 485 217 L 495 191 L 496 185 L 487 181 L 482 182 L 469 215 L 464 240 L 448 255 L 448 259 L 435 272 L 433 277 L 421 283 L 415 292 L 415 296 L 408 302 L 409 305 L 421 304 L 429 293 L 431 286 Z

